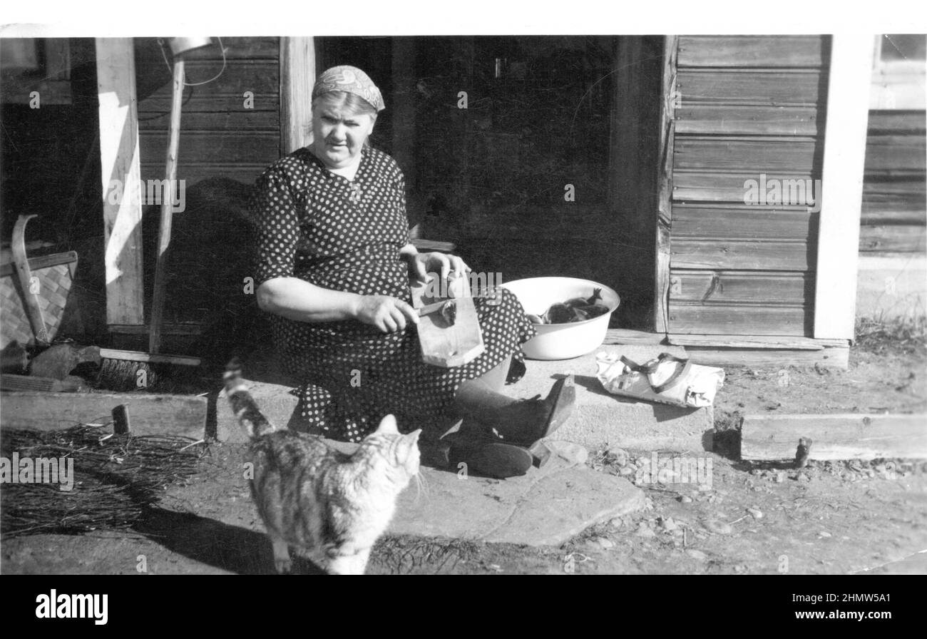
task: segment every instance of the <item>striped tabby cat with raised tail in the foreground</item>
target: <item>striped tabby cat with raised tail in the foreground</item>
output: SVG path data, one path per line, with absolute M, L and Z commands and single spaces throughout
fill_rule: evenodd
M 402 435 L 387 415 L 354 454 L 344 454 L 319 437 L 275 428 L 234 363 L 225 373 L 225 391 L 250 438 L 251 496 L 277 572 L 289 572 L 292 546 L 329 573 L 363 574 L 397 497 L 418 473 L 421 430 Z

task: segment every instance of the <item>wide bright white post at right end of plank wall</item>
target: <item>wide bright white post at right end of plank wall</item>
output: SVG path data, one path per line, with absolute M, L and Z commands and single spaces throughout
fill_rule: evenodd
M 815 338 L 854 337 L 872 53 L 870 35 L 832 36 L 824 161 L 816 194 L 820 222 Z

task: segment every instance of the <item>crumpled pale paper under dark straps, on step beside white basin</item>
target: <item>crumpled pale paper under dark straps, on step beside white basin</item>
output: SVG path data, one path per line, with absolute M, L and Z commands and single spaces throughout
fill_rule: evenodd
M 601 351 L 596 354 L 599 381 L 613 395 L 623 395 L 649 402 L 701 408 L 715 401 L 717 390 L 724 385 L 724 369 L 676 360 L 653 359 L 643 365 L 652 368 L 650 374 L 634 371 L 621 361 L 621 353 Z M 670 379 L 680 366 L 685 366 L 679 378 L 667 389 L 655 392 Z

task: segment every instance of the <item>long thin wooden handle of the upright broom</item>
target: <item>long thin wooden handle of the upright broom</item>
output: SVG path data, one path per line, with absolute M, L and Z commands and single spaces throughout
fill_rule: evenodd
M 161 345 L 161 323 L 164 318 L 164 294 L 167 285 L 167 251 L 171 246 L 171 221 L 174 193 L 177 188 L 177 148 L 180 146 L 180 110 L 184 101 L 184 58 L 174 60 L 171 88 L 171 141 L 165 169 L 167 192 L 161 198 L 161 224 L 158 232 L 158 255 L 155 262 L 155 286 L 151 301 L 151 327 L 148 331 L 148 351 L 158 353 Z

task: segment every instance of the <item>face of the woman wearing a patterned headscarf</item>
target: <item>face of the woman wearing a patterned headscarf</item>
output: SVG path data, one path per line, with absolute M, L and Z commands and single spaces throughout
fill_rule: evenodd
M 374 131 L 374 118 L 320 101 L 312 109 L 312 151 L 330 169 L 350 166 Z

